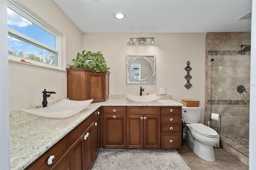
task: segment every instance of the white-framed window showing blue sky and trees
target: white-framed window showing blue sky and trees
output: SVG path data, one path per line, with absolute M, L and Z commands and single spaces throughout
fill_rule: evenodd
M 60 35 L 9 1 L 7 25 L 9 59 L 61 69 Z

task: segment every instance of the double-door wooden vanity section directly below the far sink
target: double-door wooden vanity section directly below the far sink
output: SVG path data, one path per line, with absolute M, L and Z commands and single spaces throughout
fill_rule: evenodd
M 126 107 L 126 148 L 160 148 L 160 107 Z

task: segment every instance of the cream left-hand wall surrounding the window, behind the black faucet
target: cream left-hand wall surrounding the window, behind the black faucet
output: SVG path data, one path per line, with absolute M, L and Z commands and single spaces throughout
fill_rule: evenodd
M 82 50 L 82 32 L 53 1 L 14 1 L 62 36 L 62 66 L 67 56 Z M 72 30 L 72 31 L 71 31 Z M 48 103 L 67 97 L 66 71 L 58 71 L 9 61 L 10 111 L 42 105 L 42 91 L 54 91 Z

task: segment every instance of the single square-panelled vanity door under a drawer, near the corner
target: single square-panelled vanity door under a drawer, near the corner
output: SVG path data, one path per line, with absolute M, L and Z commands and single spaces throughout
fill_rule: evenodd
M 103 116 L 103 147 L 126 147 L 126 115 Z

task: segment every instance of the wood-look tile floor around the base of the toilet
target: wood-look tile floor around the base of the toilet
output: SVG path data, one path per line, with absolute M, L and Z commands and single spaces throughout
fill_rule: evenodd
M 214 148 L 215 162 L 199 158 L 186 143 L 178 152 L 191 170 L 248 170 L 246 164 L 233 158 L 222 148 Z

